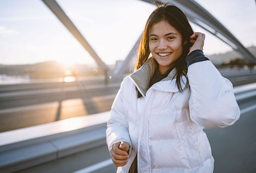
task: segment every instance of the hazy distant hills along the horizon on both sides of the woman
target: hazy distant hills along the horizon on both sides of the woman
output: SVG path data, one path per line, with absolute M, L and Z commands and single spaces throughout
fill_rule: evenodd
M 247 48 L 256 57 L 256 47 L 251 46 Z M 217 66 L 223 62 L 228 62 L 237 58 L 243 58 L 236 51 L 229 51 L 220 54 L 206 55 L 214 64 Z M 135 61 L 136 57 L 133 58 Z M 135 63 L 135 62 L 134 62 Z M 129 63 L 130 66 L 131 64 Z M 109 66 L 110 70 L 115 68 L 115 65 Z M 75 64 L 70 69 L 65 69 L 58 61 L 46 61 L 38 62 L 34 64 L 23 64 L 23 65 L 4 65 L 0 64 L 0 74 L 7 75 L 26 75 L 29 74 L 31 78 L 49 78 L 49 77 L 60 77 L 63 76 L 66 70 L 75 70 L 78 75 L 100 75 L 100 70 L 94 70 L 95 67 L 87 64 Z M 131 73 L 131 67 L 127 67 L 127 73 Z

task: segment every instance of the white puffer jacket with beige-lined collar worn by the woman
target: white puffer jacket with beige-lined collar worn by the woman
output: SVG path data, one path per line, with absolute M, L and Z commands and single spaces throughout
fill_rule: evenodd
M 130 143 L 130 158 L 117 172 L 128 172 L 138 154 L 138 172 L 213 172 L 214 158 L 203 128 L 225 127 L 240 117 L 231 82 L 209 61 L 188 67 L 189 86 L 179 92 L 175 69 L 148 88 L 156 67 L 148 59 L 126 76 L 114 100 L 106 130 L 111 148 Z M 184 83 L 186 78 L 183 77 Z M 142 97 L 137 98 L 137 89 Z

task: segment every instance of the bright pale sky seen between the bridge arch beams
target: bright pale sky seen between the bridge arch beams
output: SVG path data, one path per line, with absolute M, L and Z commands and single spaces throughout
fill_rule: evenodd
M 245 47 L 256 46 L 254 0 L 196 0 Z M 241 3 L 243 2 L 243 3 Z M 123 60 L 143 31 L 155 6 L 138 0 L 57 0 L 78 30 L 106 64 Z M 206 34 L 206 55 L 231 48 Z M 72 34 L 40 0 L 0 0 L 0 64 L 57 60 L 95 64 Z

